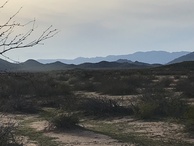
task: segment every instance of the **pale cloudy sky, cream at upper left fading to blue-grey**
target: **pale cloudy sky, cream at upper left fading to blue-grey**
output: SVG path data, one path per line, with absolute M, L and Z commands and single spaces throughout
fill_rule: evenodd
M 59 33 L 44 45 L 5 54 L 16 61 L 194 49 L 193 0 L 9 0 L 0 23 L 20 7 L 17 22 L 36 19 L 32 39 L 50 25 Z

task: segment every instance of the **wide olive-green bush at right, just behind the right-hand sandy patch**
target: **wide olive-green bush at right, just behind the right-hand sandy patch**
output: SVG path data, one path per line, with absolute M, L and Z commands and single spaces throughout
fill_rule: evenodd
M 144 94 L 136 106 L 136 116 L 142 119 L 157 117 L 181 118 L 188 107 L 182 97 L 162 91 Z

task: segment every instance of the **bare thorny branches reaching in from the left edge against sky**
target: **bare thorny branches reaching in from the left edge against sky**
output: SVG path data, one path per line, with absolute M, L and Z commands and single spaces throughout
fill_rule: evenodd
M 8 1 L 0 6 L 0 9 L 4 8 L 7 3 Z M 21 9 L 22 8 L 20 8 L 15 14 L 13 14 L 4 24 L 0 24 L 0 55 L 4 57 L 6 57 L 4 53 L 8 51 L 33 47 L 35 45 L 41 44 L 44 40 L 47 40 L 58 33 L 57 29 L 53 29 L 51 25 L 47 29 L 45 29 L 39 37 L 31 39 L 29 41 L 29 37 L 35 32 L 36 20 L 34 19 L 27 22 L 26 24 L 15 22 L 14 18 L 16 17 L 16 15 L 18 15 Z M 27 32 L 14 34 L 18 30 L 25 30 L 29 25 L 31 25 L 31 28 L 28 29 Z

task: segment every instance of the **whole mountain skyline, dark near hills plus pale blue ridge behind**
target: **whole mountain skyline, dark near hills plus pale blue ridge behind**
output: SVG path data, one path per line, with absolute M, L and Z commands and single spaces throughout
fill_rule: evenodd
M 181 56 L 182 55 L 182 56 Z M 162 56 L 162 57 L 161 57 Z M 177 57 L 180 56 L 180 57 Z M 138 58 L 139 57 L 139 58 Z M 176 58 L 177 57 L 177 58 Z M 126 59 L 130 58 L 132 60 Z M 84 63 L 80 64 L 68 64 L 61 61 L 55 61 L 51 63 L 43 64 L 36 60 L 27 60 L 26 62 L 15 64 L 0 59 L 0 71 L 24 71 L 24 72 L 41 72 L 41 71 L 52 71 L 52 70 L 67 70 L 67 69 L 135 69 L 135 68 L 150 68 L 161 66 L 162 63 L 145 63 L 142 61 L 136 61 L 145 59 L 148 61 L 161 60 L 166 58 L 176 58 L 170 61 L 169 64 L 179 63 L 183 61 L 194 61 L 194 52 L 164 52 L 164 51 L 150 51 L 150 52 L 137 52 L 129 55 L 118 55 L 118 56 L 107 56 L 107 57 L 96 57 L 96 58 L 77 58 L 75 60 L 82 60 Z M 75 61 L 70 60 L 70 61 Z M 102 60 L 96 62 L 98 60 Z M 107 61 L 113 60 L 113 61 Z M 135 61 L 133 61 L 135 60 Z M 93 63 L 93 62 L 94 63 Z M 156 61 L 157 62 L 157 61 Z M 77 62 L 78 63 L 78 62 Z

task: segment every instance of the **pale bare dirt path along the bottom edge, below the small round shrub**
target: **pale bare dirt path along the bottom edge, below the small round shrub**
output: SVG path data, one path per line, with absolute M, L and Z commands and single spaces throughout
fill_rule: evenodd
M 97 134 L 87 130 L 71 130 L 64 132 L 48 131 L 47 121 L 37 121 L 30 124 L 37 131 L 45 131 L 46 136 L 55 138 L 64 146 L 135 146 L 134 144 L 121 143 L 109 136 Z

